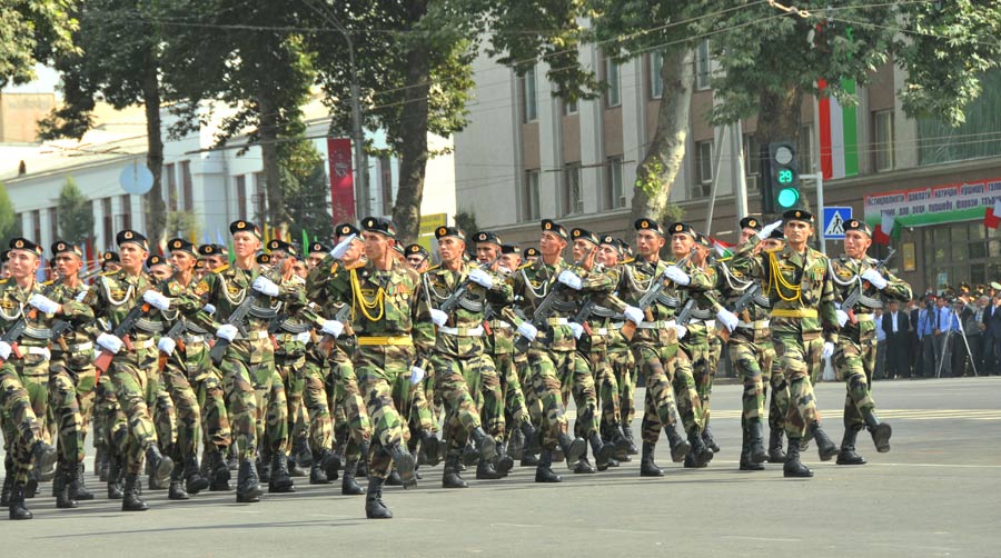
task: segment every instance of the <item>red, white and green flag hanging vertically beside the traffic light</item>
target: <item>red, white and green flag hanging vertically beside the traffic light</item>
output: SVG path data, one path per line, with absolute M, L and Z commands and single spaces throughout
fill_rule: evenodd
M 827 88 L 825 80 L 817 81 L 821 91 Z M 841 80 L 849 94 L 855 94 L 855 81 Z M 821 172 L 825 180 L 852 177 L 859 173 L 859 129 L 855 107 L 842 107 L 834 96 L 821 94 L 817 100 L 820 117 Z

